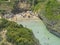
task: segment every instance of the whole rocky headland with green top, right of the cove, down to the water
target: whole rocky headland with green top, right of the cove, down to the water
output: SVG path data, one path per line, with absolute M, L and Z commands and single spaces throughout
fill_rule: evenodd
M 49 32 L 60 37 L 60 3 L 57 0 L 49 0 L 39 12 L 39 18 Z

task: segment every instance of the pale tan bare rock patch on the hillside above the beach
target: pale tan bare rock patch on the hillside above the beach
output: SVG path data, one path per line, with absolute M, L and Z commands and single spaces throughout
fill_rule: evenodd
M 22 10 L 29 10 L 31 8 L 31 1 L 30 0 L 19 0 L 17 7 Z

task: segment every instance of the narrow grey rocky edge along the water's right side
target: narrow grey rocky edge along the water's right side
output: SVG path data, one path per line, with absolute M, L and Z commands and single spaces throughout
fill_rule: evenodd
M 46 25 L 46 28 L 48 29 L 48 31 L 52 34 L 54 34 L 55 36 L 60 38 L 60 32 L 58 32 L 58 29 L 54 29 L 55 27 L 54 24 L 51 24 L 48 19 L 46 19 L 46 17 L 42 16 L 42 15 L 38 15 L 39 18 L 43 21 L 43 23 Z

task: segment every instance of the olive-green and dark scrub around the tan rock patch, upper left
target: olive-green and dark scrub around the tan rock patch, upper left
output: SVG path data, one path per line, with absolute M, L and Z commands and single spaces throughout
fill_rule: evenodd
M 0 13 L 2 13 L 2 12 L 12 12 L 12 13 L 21 12 L 23 9 L 21 10 L 18 6 L 18 4 L 21 1 L 32 5 L 32 0 L 25 0 L 25 1 L 24 0 L 10 0 L 10 2 L 0 0 Z

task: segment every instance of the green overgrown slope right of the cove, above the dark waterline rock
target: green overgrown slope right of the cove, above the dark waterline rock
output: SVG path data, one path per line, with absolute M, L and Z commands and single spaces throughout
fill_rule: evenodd
M 39 14 L 50 31 L 56 31 L 60 35 L 60 1 L 36 0 L 33 11 Z

